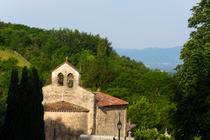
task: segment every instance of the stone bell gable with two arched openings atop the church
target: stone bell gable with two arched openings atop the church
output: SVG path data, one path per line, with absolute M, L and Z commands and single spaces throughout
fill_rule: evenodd
M 64 62 L 52 71 L 52 85 L 76 88 L 79 86 L 80 74 L 68 62 Z

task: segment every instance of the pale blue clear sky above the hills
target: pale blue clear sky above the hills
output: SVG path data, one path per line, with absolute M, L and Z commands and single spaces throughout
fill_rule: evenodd
M 0 0 L 0 21 L 69 28 L 108 38 L 114 48 L 182 46 L 199 0 Z

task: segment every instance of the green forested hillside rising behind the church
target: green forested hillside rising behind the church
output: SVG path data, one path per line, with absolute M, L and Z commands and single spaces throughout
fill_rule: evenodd
M 45 30 L 0 22 L 1 50 L 13 50 L 35 66 L 45 84 L 53 68 L 68 57 L 81 73 L 81 85 L 129 101 L 129 120 L 136 136 L 159 137 L 166 128 L 172 133 L 170 110 L 176 83 L 172 75 L 150 70 L 141 62 L 120 57 L 106 38 L 78 30 Z M 0 119 L 3 121 L 8 79 L 15 58 L 0 61 Z M 157 131 L 156 131 L 157 129 Z

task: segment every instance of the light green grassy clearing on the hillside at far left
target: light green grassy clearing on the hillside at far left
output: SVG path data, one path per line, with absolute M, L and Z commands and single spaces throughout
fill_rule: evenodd
M 5 49 L 5 50 L 0 49 L 0 59 L 8 60 L 9 58 L 17 59 L 18 61 L 17 66 L 20 66 L 20 67 L 30 66 L 30 63 L 19 53 L 12 50 L 8 50 L 8 49 Z

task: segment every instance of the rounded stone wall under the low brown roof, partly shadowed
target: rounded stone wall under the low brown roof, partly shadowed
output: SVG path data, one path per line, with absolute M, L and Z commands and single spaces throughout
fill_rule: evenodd
M 87 112 L 45 112 L 45 137 L 53 139 L 76 139 L 87 134 Z

